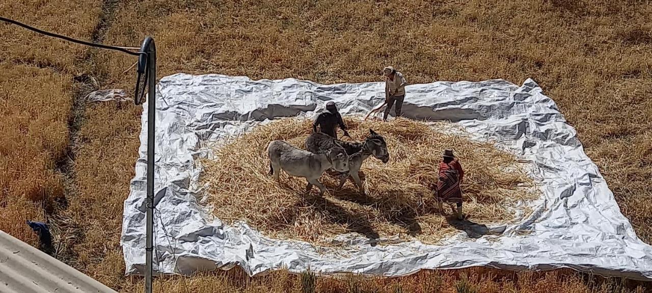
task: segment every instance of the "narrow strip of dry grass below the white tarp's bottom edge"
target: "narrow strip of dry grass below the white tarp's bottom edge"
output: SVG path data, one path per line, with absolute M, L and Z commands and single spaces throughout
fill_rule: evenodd
M 627 280 L 600 281 L 589 275 L 580 276 L 569 270 L 548 273 L 510 273 L 487 268 L 466 270 L 422 271 L 407 277 L 381 279 L 347 276 L 318 278 L 314 282 L 305 275 L 292 275 L 280 270 L 264 277 L 247 277 L 238 269 L 230 272 L 202 273 L 192 278 L 155 279 L 155 292 L 192 293 L 629 293 L 647 292 Z M 133 279 L 122 292 L 141 292 L 141 283 Z M 314 289 L 314 290 L 310 290 Z M 466 290 L 465 290 L 466 289 Z

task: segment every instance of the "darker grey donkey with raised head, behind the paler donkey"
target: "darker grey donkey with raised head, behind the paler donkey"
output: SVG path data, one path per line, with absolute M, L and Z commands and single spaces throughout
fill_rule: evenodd
M 320 132 L 312 133 L 306 139 L 306 149 L 314 154 L 328 152 L 332 148 L 338 148 L 340 146 L 344 147 L 346 154 L 349 156 L 349 174 L 342 174 L 338 188 L 342 188 L 344 182 L 346 182 L 346 178 L 351 176 L 355 185 L 360 189 L 360 192 L 364 194 L 364 186 L 358 174 L 363 165 L 363 161 L 369 158 L 369 156 L 374 156 L 383 161 L 383 163 L 387 163 L 389 161 L 387 143 L 385 143 L 382 135 L 379 135 L 371 129 L 369 130 L 369 135 L 362 143 L 340 141 Z

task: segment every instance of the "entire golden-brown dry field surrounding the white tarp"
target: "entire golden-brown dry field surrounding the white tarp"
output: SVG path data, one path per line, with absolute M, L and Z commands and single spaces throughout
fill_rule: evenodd
M 638 236 L 652 242 L 649 1 L 24 0 L 0 3 L 0 14 L 106 44 L 138 46 L 153 34 L 160 76 L 215 72 L 320 83 L 379 81 L 380 69 L 392 64 L 411 83 L 492 78 L 521 83 L 532 77 L 576 128 Z M 27 199 L 65 193 L 67 205 L 54 212 L 65 235 L 62 258 L 117 290 L 141 290 L 140 278 L 123 277 L 119 247 L 122 202 L 139 145 L 140 107 L 80 107 L 73 103 L 79 82 L 72 79 L 87 74 L 102 89 L 132 91 L 133 70 L 123 72 L 135 60 L 5 24 L 0 24 L 0 39 L 0 113 L 3 122 L 17 121 L 1 126 L 0 229 L 35 244 L 24 219 L 41 219 L 42 210 Z M 20 84 L 30 85 L 29 91 L 10 86 Z M 52 94 L 57 91 L 61 94 Z M 27 100 L 34 103 L 22 102 Z M 70 124 L 71 113 L 83 119 Z M 66 125 L 79 127 L 72 141 Z M 62 147 L 74 158 L 63 173 L 57 167 L 67 160 L 61 158 Z M 35 185 L 27 178 L 45 181 Z M 38 191 L 29 191 L 35 186 Z M 632 292 L 593 286 L 576 273 L 461 271 L 481 286 L 479 292 Z M 402 292 L 437 292 L 423 286 L 434 286 L 438 275 L 445 275 L 439 292 L 454 292 L 462 279 L 458 272 L 361 283 L 319 279 L 317 292 L 401 292 L 388 282 L 400 283 Z M 158 279 L 155 288 L 296 292 L 299 284 L 284 272 L 253 279 L 228 272 Z

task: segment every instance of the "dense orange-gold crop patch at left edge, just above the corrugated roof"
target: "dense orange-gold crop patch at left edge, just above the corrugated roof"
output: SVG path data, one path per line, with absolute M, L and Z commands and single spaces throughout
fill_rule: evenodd
M 55 161 L 68 144 L 67 77 L 0 63 L 0 230 L 31 244 L 25 220 L 42 220 L 42 206 L 63 197 Z

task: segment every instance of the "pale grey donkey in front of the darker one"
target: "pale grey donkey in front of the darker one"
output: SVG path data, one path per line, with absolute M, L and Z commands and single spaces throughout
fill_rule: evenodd
M 328 152 L 313 154 L 285 141 L 272 141 L 267 145 L 267 154 L 270 160 L 269 174 L 273 174 L 277 181 L 281 170 L 292 176 L 306 178 L 306 193 L 310 192 L 314 185 L 319 188 L 319 195 L 324 194 L 326 188 L 318 179 L 327 169 L 333 168 L 342 173 L 349 171 L 349 157 L 346 150 L 338 145 L 334 145 Z

